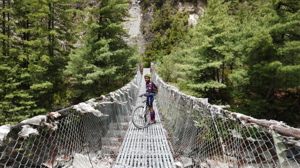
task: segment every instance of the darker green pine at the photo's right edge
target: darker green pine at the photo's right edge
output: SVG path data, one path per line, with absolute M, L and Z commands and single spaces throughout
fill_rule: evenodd
M 251 11 L 254 18 L 244 19 L 244 66 L 231 80 L 248 115 L 267 119 L 280 116 L 281 121 L 290 122 L 295 119 L 290 116 L 298 113 L 299 4 L 296 0 L 265 2 Z

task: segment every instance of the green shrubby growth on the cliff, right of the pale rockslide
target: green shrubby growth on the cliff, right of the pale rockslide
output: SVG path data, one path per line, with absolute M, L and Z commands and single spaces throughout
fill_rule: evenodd
M 149 31 L 155 35 L 143 54 L 142 61 L 145 62 L 144 64 L 157 62 L 164 55 L 175 50 L 176 45 L 187 32 L 187 12 L 179 13 L 172 10 L 168 1 L 154 9 L 156 9 L 153 15 L 154 19 Z

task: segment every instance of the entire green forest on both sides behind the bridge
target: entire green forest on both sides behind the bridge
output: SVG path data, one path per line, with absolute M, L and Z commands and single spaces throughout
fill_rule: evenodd
M 124 40 L 128 0 L 2 0 L 0 124 L 114 91 L 140 59 L 185 94 L 299 127 L 300 1 L 187 1 L 206 3 L 196 25 L 176 0 L 140 2 L 153 15 L 138 53 Z

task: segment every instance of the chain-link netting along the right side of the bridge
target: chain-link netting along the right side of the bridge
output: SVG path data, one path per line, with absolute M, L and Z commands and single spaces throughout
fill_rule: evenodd
M 300 168 L 300 131 L 187 96 L 165 84 L 156 105 L 174 160 L 184 168 Z

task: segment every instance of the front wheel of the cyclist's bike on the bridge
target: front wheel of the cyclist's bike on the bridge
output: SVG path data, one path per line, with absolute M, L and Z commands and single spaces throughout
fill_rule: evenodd
M 143 115 L 143 111 L 145 112 L 145 115 Z M 136 128 L 145 128 L 150 122 L 150 113 L 144 106 L 137 106 L 132 111 L 131 120 Z

